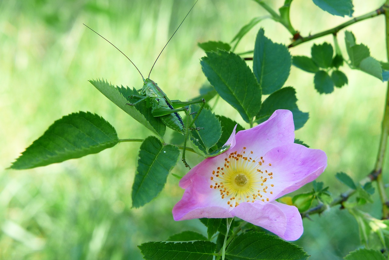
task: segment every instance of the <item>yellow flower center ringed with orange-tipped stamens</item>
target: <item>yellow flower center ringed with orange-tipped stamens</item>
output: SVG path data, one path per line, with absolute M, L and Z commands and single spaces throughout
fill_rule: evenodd
M 224 159 L 223 167 L 217 167 L 210 176 L 210 188 L 220 191 L 221 198 L 230 207 L 236 207 L 240 202 L 267 202 L 266 193 L 273 194 L 273 172 L 268 170 L 272 164 L 265 164 L 263 157 L 252 159 L 252 151 L 251 157 L 245 156 L 245 149 L 230 153 Z

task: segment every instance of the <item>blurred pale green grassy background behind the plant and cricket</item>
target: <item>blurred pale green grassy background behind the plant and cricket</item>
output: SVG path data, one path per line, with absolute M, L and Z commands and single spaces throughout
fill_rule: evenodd
M 280 7 L 282 0 L 267 1 Z M 354 0 L 358 16 L 383 0 Z M 68 0 L 0 1 L 0 168 L 5 169 L 54 120 L 77 111 L 107 119 L 119 138 L 145 138 L 151 133 L 109 102 L 87 80 L 104 78 L 112 84 L 142 86 L 131 63 L 90 26 L 126 53 L 147 75 L 159 51 L 194 1 Z M 200 0 L 156 63 L 151 78 L 171 99 L 198 95 L 205 82 L 197 42 L 229 42 L 235 33 L 266 12 L 251 0 Z M 350 18 L 334 17 L 312 1 L 295 0 L 293 26 L 302 35 L 319 32 Z M 252 50 L 260 27 L 275 42 L 289 44 L 291 35 L 265 20 L 247 35 L 237 51 Z M 386 61 L 384 17 L 348 28 L 373 57 Z M 345 50 L 344 31 L 338 34 Z M 332 43 L 332 36 L 315 40 Z M 314 42 L 291 49 L 310 56 Z M 251 64 L 250 64 L 251 65 Z M 345 191 L 334 175 L 345 171 L 356 180 L 369 174 L 377 155 L 386 83 L 344 67 L 349 84 L 330 95 L 313 88 L 313 74 L 292 68 L 287 86 L 294 86 L 298 105 L 310 113 L 296 138 L 328 155 L 328 168 L 319 177 L 333 195 Z M 213 101 L 210 102 L 211 104 Z M 215 109 L 243 124 L 228 104 Z M 247 126 L 247 125 L 246 125 Z M 168 130 L 171 134 L 171 131 Z M 167 138 L 168 140 L 168 138 Z M 97 155 L 32 170 L 0 172 L 0 259 L 142 259 L 137 245 L 161 241 L 173 233 L 194 230 L 205 234 L 198 220 L 173 221 L 171 210 L 183 190 L 168 177 L 159 197 L 131 209 L 131 186 L 140 143 L 122 143 Z M 201 158 L 189 155 L 195 165 Z M 384 174 L 388 173 L 385 165 Z M 179 164 L 174 174 L 184 175 Z M 305 187 L 310 190 L 311 184 Z M 377 197 L 377 196 L 376 196 Z M 364 210 L 380 217 L 378 199 Z M 359 246 L 356 221 L 333 208 L 305 219 L 305 232 L 295 243 L 310 259 L 340 259 Z

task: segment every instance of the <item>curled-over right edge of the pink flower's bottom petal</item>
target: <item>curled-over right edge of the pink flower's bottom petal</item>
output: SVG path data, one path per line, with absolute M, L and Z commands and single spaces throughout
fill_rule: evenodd
M 282 204 L 277 201 L 273 201 L 272 204 L 278 206 L 282 212 L 286 215 L 286 230 L 281 237 L 287 241 L 294 241 L 301 237 L 303 234 L 303 220 L 298 209 L 294 206 Z

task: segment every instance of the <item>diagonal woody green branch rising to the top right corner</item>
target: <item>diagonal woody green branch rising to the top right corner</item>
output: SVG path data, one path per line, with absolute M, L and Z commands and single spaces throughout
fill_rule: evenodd
M 294 42 L 292 42 L 291 44 L 289 44 L 288 47 L 291 48 L 291 47 L 297 46 L 299 44 L 302 44 L 303 42 L 307 42 L 309 40 L 313 40 L 313 39 L 316 39 L 316 38 L 319 38 L 319 37 L 322 37 L 322 36 L 325 36 L 328 34 L 336 34 L 337 32 L 339 32 L 340 30 L 342 30 L 343 28 L 345 28 L 349 25 L 352 25 L 352 24 L 357 23 L 359 21 L 363 21 L 363 20 L 368 19 L 368 18 L 373 18 L 375 16 L 378 16 L 380 14 L 385 13 L 385 11 L 387 11 L 387 10 L 388 10 L 388 7 L 385 5 L 382 5 L 380 8 L 378 8 L 375 11 L 371 11 L 371 12 L 368 12 L 367 14 L 355 17 L 355 18 L 353 18 L 345 23 L 342 23 L 341 25 L 338 25 L 334 28 L 331 28 L 329 30 L 325 30 L 323 32 L 316 33 L 314 35 L 309 35 L 307 37 L 300 37 L 299 39 L 297 39 Z

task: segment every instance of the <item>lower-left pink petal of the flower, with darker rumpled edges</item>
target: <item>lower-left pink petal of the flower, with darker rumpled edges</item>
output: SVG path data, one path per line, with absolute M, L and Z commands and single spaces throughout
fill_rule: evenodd
M 195 175 L 182 199 L 173 207 L 174 220 L 193 218 L 232 218 L 228 205 L 209 187 L 209 179 Z

